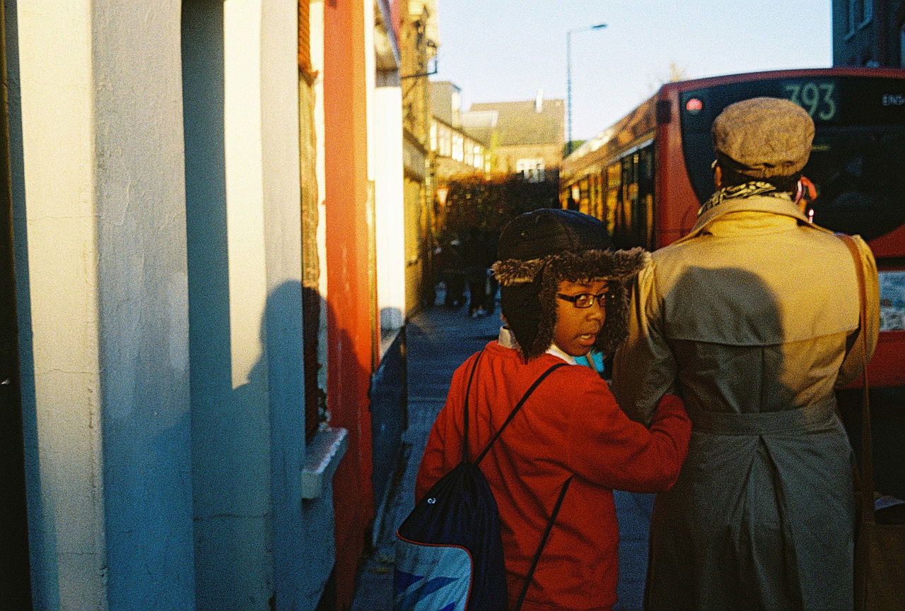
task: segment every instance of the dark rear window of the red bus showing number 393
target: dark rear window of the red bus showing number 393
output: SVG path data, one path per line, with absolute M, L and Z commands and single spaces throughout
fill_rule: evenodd
M 752 80 L 680 95 L 682 148 L 700 202 L 713 193 L 710 125 L 741 99 L 792 99 L 814 118 L 803 174 L 817 187 L 814 222 L 872 240 L 905 223 L 905 81 L 835 76 Z

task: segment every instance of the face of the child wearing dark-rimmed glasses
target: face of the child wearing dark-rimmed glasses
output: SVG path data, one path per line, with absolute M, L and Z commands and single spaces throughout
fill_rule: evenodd
M 571 356 L 590 352 L 606 319 L 606 289 L 605 280 L 559 283 L 557 325 L 553 330 L 553 343 L 559 350 Z M 589 307 L 578 307 L 588 301 Z

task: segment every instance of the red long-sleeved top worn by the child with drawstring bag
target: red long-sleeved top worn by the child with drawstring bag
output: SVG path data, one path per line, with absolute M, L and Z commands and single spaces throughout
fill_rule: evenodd
M 474 358 L 452 376 L 446 405 L 424 449 L 416 499 L 461 459 L 462 406 Z M 511 348 L 487 345 L 469 395 L 472 458 L 531 383 L 557 362 L 556 356 L 543 354 L 525 363 Z M 570 365 L 553 371 L 481 461 L 500 509 L 510 603 L 524 584 L 559 490 L 574 474 L 522 609 L 613 606 L 619 543 L 613 489 L 669 489 L 689 437 L 691 422 L 677 397 L 663 398 L 648 429 L 624 415 L 591 368 Z

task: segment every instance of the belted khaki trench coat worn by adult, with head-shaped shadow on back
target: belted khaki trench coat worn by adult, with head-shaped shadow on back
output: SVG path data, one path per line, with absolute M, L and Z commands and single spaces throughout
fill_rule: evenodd
M 867 284 L 868 357 L 879 287 Z M 648 422 L 686 401 L 691 447 L 654 505 L 651 609 L 851 609 L 852 450 L 834 388 L 861 372 L 859 293 L 842 240 L 786 198 L 726 200 L 653 253 L 613 390 Z M 854 347 L 853 347 L 854 346 Z

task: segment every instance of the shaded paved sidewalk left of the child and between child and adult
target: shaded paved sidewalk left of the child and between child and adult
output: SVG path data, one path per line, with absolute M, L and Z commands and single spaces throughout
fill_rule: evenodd
M 356 581 L 353 611 L 393 608 L 393 540 L 395 530 L 414 507 L 414 476 L 433 419 L 443 407 L 452 372 L 500 330 L 494 315 L 472 319 L 467 309 L 434 306 L 416 315 L 406 329 L 408 360 L 408 429 L 385 502 L 377 508 L 374 552 L 363 559 Z M 620 578 L 615 609 L 640 609 L 647 567 L 647 531 L 652 494 L 615 493 L 619 518 Z

